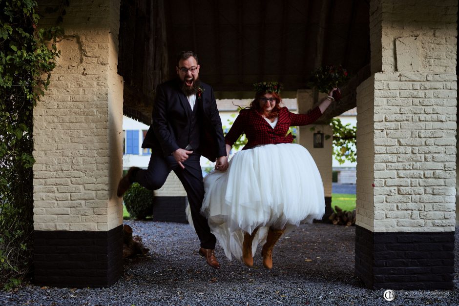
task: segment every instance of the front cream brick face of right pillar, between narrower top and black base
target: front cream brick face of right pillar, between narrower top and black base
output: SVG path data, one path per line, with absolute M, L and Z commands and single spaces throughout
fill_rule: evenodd
M 375 75 L 376 231 L 454 231 L 456 75 Z

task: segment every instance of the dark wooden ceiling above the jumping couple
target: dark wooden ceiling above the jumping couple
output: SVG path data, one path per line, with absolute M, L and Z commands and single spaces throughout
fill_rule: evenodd
M 180 50 L 198 54 L 200 78 L 217 97 L 232 92 L 237 98 L 262 80 L 280 81 L 285 91 L 296 92 L 319 66 L 342 64 L 355 76 L 370 62 L 368 0 L 121 3 L 125 113 L 142 113 L 142 121 L 150 116 L 156 85 L 175 76 Z M 354 106 L 355 101 L 348 109 Z

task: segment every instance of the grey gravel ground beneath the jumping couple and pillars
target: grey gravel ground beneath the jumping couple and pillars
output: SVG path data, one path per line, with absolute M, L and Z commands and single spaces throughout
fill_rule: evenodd
M 1 305 L 459 305 L 458 234 L 454 290 L 365 289 L 354 272 L 355 227 L 304 224 L 274 248 L 272 270 L 228 261 L 218 246 L 221 271 L 198 255 L 188 224 L 125 221 L 150 252 L 125 261 L 121 279 L 109 288 L 48 288 L 23 285 L 0 291 Z M 456 230 L 456 233 L 458 231 Z M 390 289 L 390 288 L 388 288 Z

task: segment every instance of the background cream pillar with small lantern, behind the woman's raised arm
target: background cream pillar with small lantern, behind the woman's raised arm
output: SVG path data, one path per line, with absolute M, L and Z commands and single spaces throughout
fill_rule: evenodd
M 319 99 L 325 97 L 325 94 L 319 94 Z M 314 95 L 311 89 L 300 89 L 296 93 L 298 102 L 298 113 L 304 114 L 313 108 Z M 315 130 L 311 131 L 314 126 Z M 331 136 L 329 139 L 324 137 L 324 147 L 314 148 L 313 134 L 322 132 L 324 135 Z M 332 214 L 332 153 L 333 153 L 333 129 L 330 124 L 311 124 L 299 127 L 297 143 L 304 146 L 314 159 L 314 162 L 319 169 L 322 182 L 324 184 L 325 195 L 325 215 L 323 220 L 328 220 Z

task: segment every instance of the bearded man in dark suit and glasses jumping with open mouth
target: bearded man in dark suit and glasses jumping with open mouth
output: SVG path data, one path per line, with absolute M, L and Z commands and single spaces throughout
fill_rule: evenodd
M 146 170 L 131 167 L 121 179 L 117 195 L 123 196 L 129 186 L 137 182 L 156 190 L 174 171 L 187 192 L 193 225 L 201 242 L 199 254 L 216 269 L 215 236 L 200 209 L 204 199 L 204 185 L 199 163 L 201 155 L 216 161 L 215 169 L 226 170 L 228 160 L 222 122 L 210 85 L 199 80 L 199 63 L 192 51 L 180 52 L 177 59 L 177 78 L 158 85 L 153 106 L 152 124 L 143 148 L 151 148 Z

